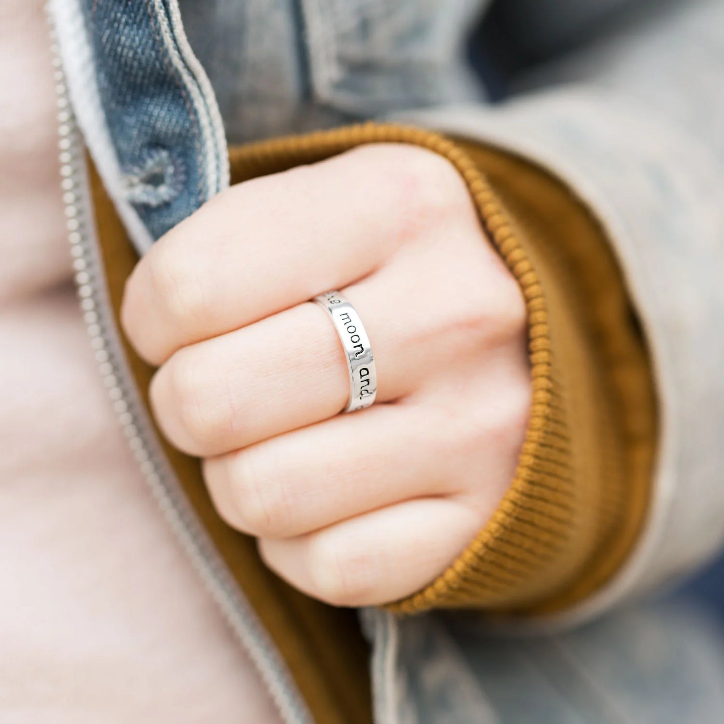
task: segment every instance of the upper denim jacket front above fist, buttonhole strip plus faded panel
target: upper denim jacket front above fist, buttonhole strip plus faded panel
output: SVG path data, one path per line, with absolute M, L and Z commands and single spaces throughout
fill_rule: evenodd
M 76 111 L 127 226 L 140 219 L 140 251 L 224 188 L 226 136 L 475 98 L 464 45 L 488 1 L 65 0 L 98 106 L 84 113 L 88 84 L 77 83 Z M 92 143 L 101 125 L 106 167 Z

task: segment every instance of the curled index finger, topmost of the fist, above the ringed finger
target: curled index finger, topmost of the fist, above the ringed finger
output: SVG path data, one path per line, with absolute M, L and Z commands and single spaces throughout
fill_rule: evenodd
M 445 167 L 456 176 L 420 148 L 365 146 L 230 188 L 136 267 L 122 307 L 130 341 L 160 364 L 185 345 L 365 277 L 410 236 L 432 195 L 421 180 L 439 180 Z M 434 193 L 444 190 L 443 182 Z

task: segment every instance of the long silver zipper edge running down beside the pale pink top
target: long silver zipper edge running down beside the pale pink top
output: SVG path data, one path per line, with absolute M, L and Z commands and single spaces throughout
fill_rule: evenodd
M 106 299 L 104 282 L 98 274 L 99 262 L 92 240 L 92 222 L 85 213 L 89 203 L 83 144 L 67 92 L 51 13 L 48 13 L 48 17 L 58 108 L 58 148 L 66 226 L 80 308 L 98 369 L 118 421 L 140 470 L 151 487 L 153 497 L 266 683 L 282 720 L 285 724 L 312 724 L 313 719 L 292 683 L 285 663 L 261 627 L 256 614 L 238 592 L 235 581 L 205 531 L 195 520 L 182 492 L 177 488 L 160 446 L 144 420 L 141 412 L 143 408 L 138 400 L 134 399 L 134 392 L 131 391 L 132 384 L 129 384 L 130 378 L 125 363 L 122 362 L 122 354 L 118 353 L 119 341 L 114 337 L 113 324 L 107 311 L 109 301 Z

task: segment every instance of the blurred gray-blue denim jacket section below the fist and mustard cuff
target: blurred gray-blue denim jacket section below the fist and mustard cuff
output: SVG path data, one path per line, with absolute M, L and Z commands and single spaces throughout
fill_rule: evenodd
M 379 724 L 718 724 L 724 631 L 685 597 L 540 636 L 480 618 L 378 622 Z

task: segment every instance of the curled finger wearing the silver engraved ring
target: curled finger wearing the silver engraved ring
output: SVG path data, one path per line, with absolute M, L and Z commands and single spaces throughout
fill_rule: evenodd
M 370 337 L 376 399 L 383 403 L 415 390 L 431 359 L 424 340 L 413 334 L 421 327 L 421 310 L 405 300 L 420 292 L 409 289 L 405 276 L 385 269 L 345 290 Z M 340 339 L 327 313 L 310 303 L 179 350 L 151 384 L 164 433 L 201 457 L 330 418 L 349 394 Z

